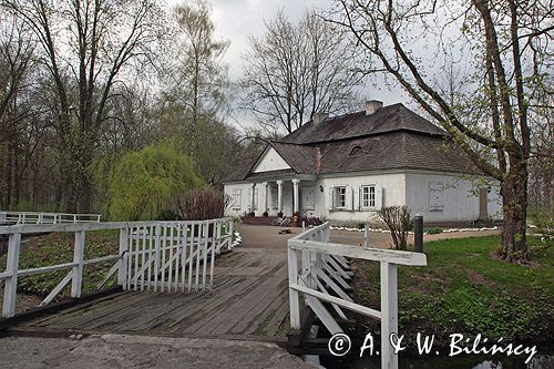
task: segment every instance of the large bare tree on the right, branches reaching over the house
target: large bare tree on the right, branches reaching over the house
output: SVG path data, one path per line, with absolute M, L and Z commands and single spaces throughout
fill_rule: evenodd
M 500 182 L 504 219 L 499 254 L 525 260 L 529 113 L 540 85 L 531 81 L 543 79 L 552 60 L 552 7 L 517 0 L 340 0 L 337 6 L 332 22 L 366 52 L 367 70 L 392 75 L 483 173 Z M 418 52 L 430 39 L 440 51 L 459 48 L 468 60 L 469 79 L 460 91 L 472 99 L 458 99 L 461 106 L 431 82 L 440 58 Z M 475 109 L 482 114 L 464 114 Z

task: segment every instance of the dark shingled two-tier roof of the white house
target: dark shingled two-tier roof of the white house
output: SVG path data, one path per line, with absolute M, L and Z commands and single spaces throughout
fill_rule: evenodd
M 360 112 L 310 122 L 269 145 L 291 170 L 252 173 L 260 156 L 224 182 L 388 168 L 481 173 L 444 131 L 402 104 L 371 115 Z M 316 173 L 318 151 L 321 166 Z

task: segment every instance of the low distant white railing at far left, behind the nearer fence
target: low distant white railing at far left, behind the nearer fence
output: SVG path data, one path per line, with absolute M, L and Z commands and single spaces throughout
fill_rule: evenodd
M 0 212 L 0 226 L 14 224 L 100 223 L 101 217 L 101 214 Z

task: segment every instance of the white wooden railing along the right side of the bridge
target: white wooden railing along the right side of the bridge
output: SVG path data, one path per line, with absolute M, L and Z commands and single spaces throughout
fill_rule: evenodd
M 290 328 L 300 327 L 300 294 L 305 303 L 331 332 L 342 332 L 335 316 L 324 303 L 330 304 L 336 316 L 347 319 L 346 310 L 381 320 L 381 368 L 398 368 L 398 357 L 390 345 L 390 335 L 398 334 L 398 265 L 424 266 L 424 254 L 329 243 L 329 224 L 322 224 L 288 240 L 288 279 Z M 347 258 L 380 263 L 380 310 L 356 304 L 346 290 L 351 273 Z

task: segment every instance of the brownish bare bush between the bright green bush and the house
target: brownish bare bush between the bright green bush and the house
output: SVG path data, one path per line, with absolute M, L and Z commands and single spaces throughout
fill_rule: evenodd
M 220 218 L 230 205 L 230 198 L 215 188 L 193 189 L 177 199 L 181 216 L 187 221 Z

